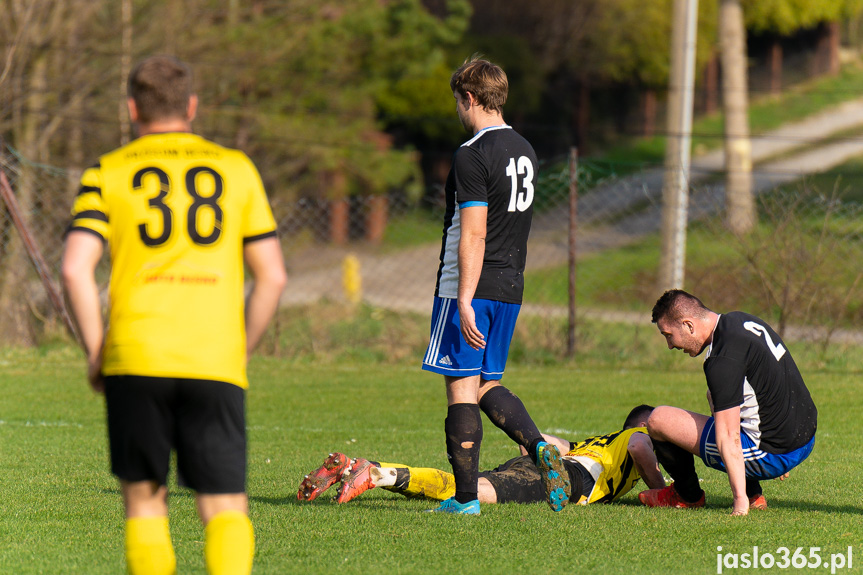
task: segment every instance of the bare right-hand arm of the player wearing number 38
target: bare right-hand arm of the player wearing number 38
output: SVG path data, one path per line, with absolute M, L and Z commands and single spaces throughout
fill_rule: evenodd
M 261 341 L 267 324 L 279 307 L 288 283 L 282 246 L 277 237 L 268 237 L 243 246 L 243 259 L 254 277 L 246 300 L 246 357 Z

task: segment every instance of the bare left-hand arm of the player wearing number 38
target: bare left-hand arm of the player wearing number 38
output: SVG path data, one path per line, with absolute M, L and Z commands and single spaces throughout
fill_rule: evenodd
M 87 354 L 88 379 L 97 392 L 104 391 L 101 374 L 104 327 L 96 283 L 96 266 L 103 249 L 102 239 L 96 235 L 70 231 L 62 263 L 63 289 Z

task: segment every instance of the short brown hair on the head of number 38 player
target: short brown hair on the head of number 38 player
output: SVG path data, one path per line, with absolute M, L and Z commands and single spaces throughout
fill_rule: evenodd
M 194 93 L 192 69 L 173 56 L 151 56 L 129 74 L 128 94 L 138 109 L 138 121 L 185 118 Z

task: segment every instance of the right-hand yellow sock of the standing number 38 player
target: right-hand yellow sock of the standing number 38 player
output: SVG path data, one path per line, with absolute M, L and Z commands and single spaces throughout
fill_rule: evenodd
M 204 559 L 210 575 L 242 575 L 252 572 L 255 530 L 241 511 L 222 511 L 204 529 Z

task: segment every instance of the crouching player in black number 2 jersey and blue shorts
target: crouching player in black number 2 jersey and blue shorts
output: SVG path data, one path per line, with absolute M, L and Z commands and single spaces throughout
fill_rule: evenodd
M 653 322 L 669 349 L 706 353 L 712 417 L 661 406 L 648 420 L 657 458 L 674 479 L 639 494 L 650 507 L 701 507 L 704 492 L 692 454 L 728 473 L 732 515 L 765 509 L 762 479 L 784 479 L 812 452 L 818 410 L 785 343 L 763 320 L 717 314 L 683 290 L 665 292 Z

